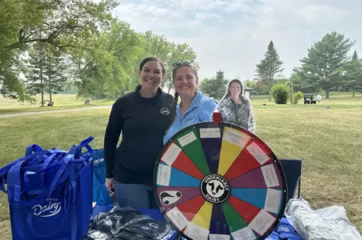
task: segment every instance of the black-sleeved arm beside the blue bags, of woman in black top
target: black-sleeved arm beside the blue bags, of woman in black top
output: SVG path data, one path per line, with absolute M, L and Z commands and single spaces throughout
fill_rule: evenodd
M 113 169 L 115 167 L 117 143 L 121 135 L 123 125 L 123 108 L 121 99 L 113 104 L 108 120 L 107 128 L 105 129 L 105 177 L 113 178 Z

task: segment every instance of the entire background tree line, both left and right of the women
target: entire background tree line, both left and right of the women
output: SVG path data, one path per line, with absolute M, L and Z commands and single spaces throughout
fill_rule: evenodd
M 35 101 L 35 94 L 52 94 L 76 87 L 78 97 L 114 98 L 138 84 L 139 62 L 156 56 L 165 62 L 163 87 L 172 88 L 171 64 L 196 59 L 187 43 L 176 43 L 152 31 L 137 33 L 129 23 L 112 16 L 116 0 L 4 0 L 0 8 L 0 94 Z M 293 85 L 303 92 L 362 89 L 362 60 L 349 56 L 355 41 L 337 32 L 315 42 L 290 77 L 274 42 L 256 64 L 255 79 L 246 86 L 271 95 L 275 84 Z M 198 66 L 198 64 L 197 64 Z M 203 79 L 200 90 L 221 98 L 228 79 L 218 70 Z

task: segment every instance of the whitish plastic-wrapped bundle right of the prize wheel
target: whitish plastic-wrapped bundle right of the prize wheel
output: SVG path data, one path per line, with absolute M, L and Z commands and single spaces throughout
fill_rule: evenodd
M 294 218 L 293 227 L 305 240 L 362 240 L 344 207 L 312 210 L 305 200 L 293 198 L 286 205 L 286 216 Z

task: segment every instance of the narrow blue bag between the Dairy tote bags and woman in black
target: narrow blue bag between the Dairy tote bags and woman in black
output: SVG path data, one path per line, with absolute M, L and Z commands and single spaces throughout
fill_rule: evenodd
M 112 199 L 105 187 L 104 150 L 94 149 L 93 153 L 93 202 L 96 202 L 98 206 L 110 205 Z

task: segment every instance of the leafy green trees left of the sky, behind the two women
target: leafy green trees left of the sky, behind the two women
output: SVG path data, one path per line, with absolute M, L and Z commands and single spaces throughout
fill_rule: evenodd
M 197 58 L 187 43 L 152 31 L 137 33 L 112 16 L 115 0 L 4 0 L 0 9 L 0 94 L 35 101 L 76 86 L 82 98 L 122 96 L 138 84 L 139 63 L 165 62 L 163 87 L 172 84 L 171 64 Z M 26 16 L 26 17 L 24 17 Z M 198 64 L 197 64 L 198 66 Z

